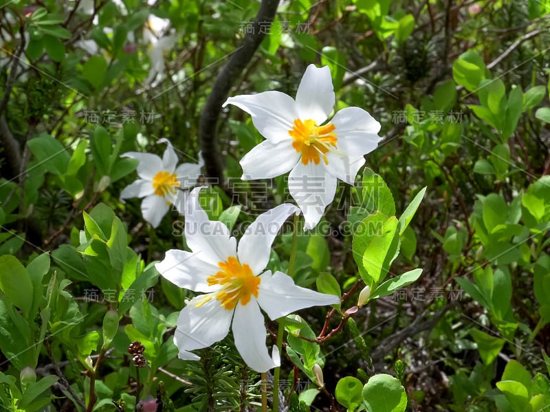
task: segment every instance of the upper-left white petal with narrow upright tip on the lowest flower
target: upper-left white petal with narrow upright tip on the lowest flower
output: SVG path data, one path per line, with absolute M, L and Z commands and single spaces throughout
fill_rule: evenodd
M 195 187 L 189 194 L 185 210 L 185 238 L 199 259 L 217 265 L 236 255 L 236 239 L 222 222 L 208 220 L 199 203 L 199 193 L 206 186 Z

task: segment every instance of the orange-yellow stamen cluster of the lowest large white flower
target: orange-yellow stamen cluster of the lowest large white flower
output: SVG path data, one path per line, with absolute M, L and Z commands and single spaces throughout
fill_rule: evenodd
M 233 310 L 237 302 L 241 301 L 241 305 L 245 306 L 250 302 L 252 295 L 258 297 L 258 286 L 261 279 L 252 274 L 252 269 L 248 264 L 241 265 L 237 258 L 231 256 L 225 262 L 219 262 L 218 266 L 221 271 L 208 276 L 206 280 L 210 286 L 223 286 L 223 289 L 215 293 L 216 299 L 221 301 L 221 306 L 227 310 Z M 214 293 L 204 295 L 197 307 L 210 301 L 212 295 Z

